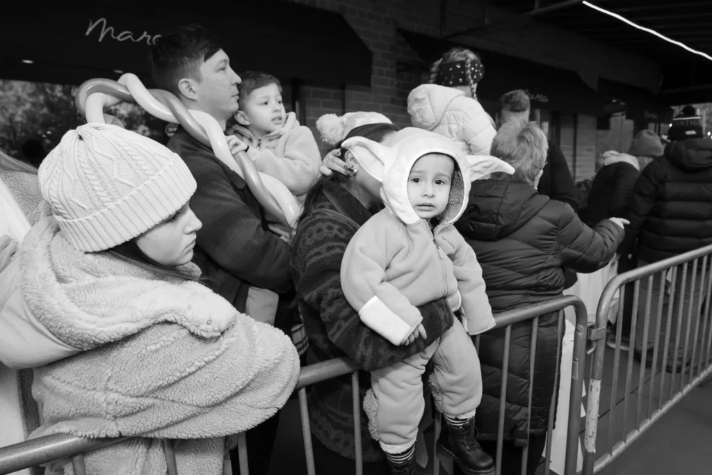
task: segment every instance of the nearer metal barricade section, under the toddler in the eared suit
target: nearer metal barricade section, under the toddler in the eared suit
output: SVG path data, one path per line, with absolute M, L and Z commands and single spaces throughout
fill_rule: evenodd
M 501 398 L 499 405 L 499 419 L 498 419 L 498 437 L 497 437 L 497 451 L 496 451 L 496 464 L 497 470 L 496 474 L 500 474 L 501 461 L 502 461 L 502 451 L 503 451 L 503 439 L 504 439 L 504 414 L 505 414 L 505 404 L 506 404 L 506 394 L 507 394 L 507 380 L 509 364 L 509 353 L 510 353 L 510 343 L 511 343 L 511 328 L 512 325 L 516 323 L 521 323 L 526 320 L 531 320 L 532 328 L 532 338 L 530 344 L 530 377 L 534 375 L 534 364 L 535 364 L 535 354 L 537 345 L 537 329 L 539 318 L 542 315 L 550 315 L 552 313 L 557 313 L 557 329 L 560 338 L 557 338 L 557 361 L 555 367 L 555 388 L 553 392 L 553 397 L 550 404 L 550 417 L 548 420 L 548 442 L 545 449 L 546 457 L 546 467 L 545 474 L 549 474 L 549 461 L 550 454 L 552 450 L 551 434 L 553 433 L 555 424 L 555 413 L 556 413 L 556 390 L 557 383 L 559 380 L 559 366 L 560 366 L 560 354 L 562 350 L 562 336 L 563 325 L 565 320 L 564 312 L 562 311 L 567 307 L 574 307 L 576 315 L 575 323 L 575 336 L 574 336 L 574 349 L 572 355 L 572 374 L 571 374 L 571 388 L 570 388 L 570 406 L 568 409 L 567 421 L 560 421 L 560 424 L 567 424 L 567 444 L 565 451 L 565 472 L 560 475 L 575 475 L 577 466 L 577 451 L 579 444 L 579 434 L 580 434 L 580 408 L 582 404 L 582 392 L 583 392 L 583 370 L 586 357 L 586 341 L 587 341 L 587 311 L 579 298 L 575 296 L 563 296 L 553 298 L 550 301 L 545 301 L 543 303 L 538 303 L 533 306 L 528 306 L 525 308 L 518 308 L 515 310 L 508 311 L 506 313 L 501 313 L 496 315 L 497 325 L 496 328 L 504 328 L 504 354 L 503 354 L 503 374 L 501 379 Z M 476 348 L 479 348 L 479 338 L 475 341 Z M 552 368 L 554 369 L 554 368 Z M 362 467 L 362 443 L 361 443 L 361 397 L 359 388 L 359 373 L 358 367 L 345 358 L 337 358 L 335 360 L 329 360 L 326 362 L 320 362 L 315 365 L 309 365 L 303 367 L 300 372 L 299 380 L 296 389 L 298 390 L 298 399 L 300 407 L 300 417 L 302 423 L 302 433 L 303 442 L 305 450 L 305 459 L 307 464 L 307 472 L 309 475 L 315 474 L 315 460 L 313 454 L 313 446 L 311 439 L 311 432 L 309 426 L 309 409 L 307 404 L 307 389 L 311 385 L 315 385 L 318 382 L 323 382 L 325 380 L 330 380 L 335 377 L 340 377 L 344 375 L 351 374 L 352 381 L 352 400 L 353 400 L 353 414 L 354 414 L 354 428 L 355 428 L 355 466 L 356 474 L 361 475 L 363 473 Z M 531 382 L 531 380 L 530 380 Z M 529 407 L 532 403 L 532 389 L 533 385 L 530 384 L 529 393 Z M 440 429 L 440 417 L 435 417 L 435 434 L 434 441 L 438 438 L 438 433 Z M 368 434 L 366 435 L 368 437 Z M 32 466 L 38 466 L 41 464 L 46 464 L 50 461 L 56 461 L 60 459 L 70 459 L 73 465 L 73 470 L 75 475 L 85 475 L 85 461 L 84 454 L 88 451 L 99 449 L 101 447 L 106 447 L 110 444 L 116 444 L 117 442 L 122 442 L 129 437 L 117 438 L 117 439 L 83 439 L 80 437 L 75 437 L 70 434 L 53 434 L 46 437 L 39 437 L 37 439 L 31 439 L 21 444 L 14 444 L 9 447 L 0 447 L 0 475 L 9 474 L 14 471 L 21 469 L 26 469 Z M 168 473 L 169 475 L 176 475 L 177 469 L 175 464 L 175 454 L 173 449 L 173 442 L 171 440 L 164 440 L 164 451 L 167 459 Z M 522 474 L 526 471 L 526 461 L 527 461 L 527 447 L 523 448 L 522 454 Z M 246 439 L 244 434 L 239 434 L 238 438 L 238 453 L 239 453 L 239 466 L 240 473 L 242 475 L 248 475 L 248 461 L 247 461 L 247 447 Z M 436 458 L 436 453 L 433 451 L 433 474 L 437 475 L 439 473 L 439 461 Z M 227 469 L 229 470 L 229 469 Z

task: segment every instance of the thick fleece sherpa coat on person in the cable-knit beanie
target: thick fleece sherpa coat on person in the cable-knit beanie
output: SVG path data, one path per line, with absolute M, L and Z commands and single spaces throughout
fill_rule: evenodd
M 88 454 L 90 474 L 221 474 L 226 439 L 283 406 L 299 372 L 289 338 L 194 281 L 165 280 L 105 253 L 74 249 L 53 217 L 19 251 L 38 323 L 80 353 L 36 368 L 44 423 L 32 437 L 143 437 Z M 186 271 L 197 273 L 188 264 Z

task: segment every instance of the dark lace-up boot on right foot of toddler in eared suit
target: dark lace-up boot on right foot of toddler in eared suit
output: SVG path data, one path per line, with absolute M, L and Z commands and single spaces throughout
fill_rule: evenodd
M 451 456 L 466 474 L 494 474 L 494 460 L 482 450 L 475 438 L 474 417 L 462 427 L 443 424 L 438 439 L 438 454 Z

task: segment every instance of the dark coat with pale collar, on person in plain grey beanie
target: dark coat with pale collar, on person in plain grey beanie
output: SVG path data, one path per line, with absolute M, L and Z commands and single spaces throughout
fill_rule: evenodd
M 593 179 L 588 204 L 579 213 L 587 226 L 594 226 L 602 219 L 623 217 L 639 169 L 638 159 L 632 155 L 614 150 L 604 152 L 603 167 Z

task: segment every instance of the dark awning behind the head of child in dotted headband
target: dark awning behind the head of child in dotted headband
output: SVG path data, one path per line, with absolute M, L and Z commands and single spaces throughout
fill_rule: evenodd
M 424 63 L 431 63 L 453 46 L 462 46 L 440 38 L 398 29 Z M 605 99 L 588 87 L 577 73 L 552 68 L 533 61 L 482 51 L 485 75 L 477 88 L 482 100 L 498 101 L 504 93 L 523 89 L 529 93 L 532 108 L 558 110 L 562 113 L 603 115 Z

